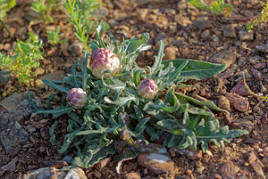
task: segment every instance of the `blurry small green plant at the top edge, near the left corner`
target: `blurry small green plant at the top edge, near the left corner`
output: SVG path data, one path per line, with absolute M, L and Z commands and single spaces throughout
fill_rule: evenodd
M 40 14 L 44 24 L 47 20 L 53 23 L 54 19 L 50 16 L 50 12 L 53 11 L 54 7 L 59 6 L 57 2 L 58 0 L 47 0 L 47 2 L 45 0 L 33 1 L 31 9 Z

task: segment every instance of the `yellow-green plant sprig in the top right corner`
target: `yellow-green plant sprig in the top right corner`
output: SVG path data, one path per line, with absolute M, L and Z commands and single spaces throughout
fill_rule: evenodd
M 253 20 L 247 23 L 247 30 L 251 30 L 256 25 L 260 23 L 266 23 L 268 20 L 268 0 L 266 0 L 266 3 L 260 1 L 260 4 L 263 6 L 262 12 L 255 16 Z

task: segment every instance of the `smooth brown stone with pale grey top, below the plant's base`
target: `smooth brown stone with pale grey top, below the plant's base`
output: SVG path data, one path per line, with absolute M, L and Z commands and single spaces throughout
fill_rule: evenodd
M 138 164 L 152 170 L 156 175 L 172 174 L 174 170 L 172 159 L 156 152 L 139 154 Z

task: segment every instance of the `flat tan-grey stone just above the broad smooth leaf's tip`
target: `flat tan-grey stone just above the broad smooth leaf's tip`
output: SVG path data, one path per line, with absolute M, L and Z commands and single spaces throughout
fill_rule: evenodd
M 209 61 L 215 63 L 227 64 L 230 67 L 231 64 L 236 62 L 236 53 L 230 51 L 223 51 L 222 53 L 216 53 Z

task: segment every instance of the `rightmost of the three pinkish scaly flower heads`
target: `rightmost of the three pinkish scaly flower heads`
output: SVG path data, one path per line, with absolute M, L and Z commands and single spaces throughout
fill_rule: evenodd
M 144 79 L 140 81 L 138 87 L 138 95 L 143 99 L 153 100 L 158 92 L 158 87 L 153 79 Z

